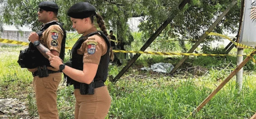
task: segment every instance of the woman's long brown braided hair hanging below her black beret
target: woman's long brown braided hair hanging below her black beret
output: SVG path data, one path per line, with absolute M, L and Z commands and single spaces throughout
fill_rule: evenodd
M 90 16 L 90 19 L 91 19 L 91 21 L 92 21 L 92 23 L 93 23 L 93 21 L 94 21 L 93 15 Z M 97 21 L 98 26 L 101 28 L 101 31 L 102 31 L 106 36 L 108 36 L 108 33 L 107 33 L 107 31 L 106 31 L 106 27 L 105 27 L 105 23 L 104 23 L 104 21 L 103 21 L 103 18 L 102 18 L 101 15 L 98 14 L 98 13 L 96 13 L 96 21 Z M 110 39 L 109 39 L 109 43 L 110 43 Z M 112 50 L 112 47 L 110 47 L 110 59 L 111 59 L 112 61 L 113 61 L 113 59 L 114 59 L 114 52 L 113 52 L 113 50 Z

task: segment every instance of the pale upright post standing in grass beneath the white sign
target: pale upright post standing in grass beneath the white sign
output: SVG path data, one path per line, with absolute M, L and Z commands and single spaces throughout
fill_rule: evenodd
M 243 55 L 244 49 L 237 48 L 237 55 Z M 243 56 L 237 56 L 237 66 L 243 61 Z M 239 92 L 242 90 L 242 82 L 243 82 L 243 68 L 237 72 L 237 90 Z

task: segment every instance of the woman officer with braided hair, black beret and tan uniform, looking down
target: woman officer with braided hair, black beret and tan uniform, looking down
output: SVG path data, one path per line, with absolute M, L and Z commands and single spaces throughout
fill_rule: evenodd
M 108 34 L 104 21 L 95 11 L 96 8 L 87 2 L 74 4 L 68 10 L 72 27 L 82 34 L 71 51 L 72 67 L 63 64 L 59 57 L 47 53 L 51 66 L 74 80 L 75 119 L 104 119 L 111 105 L 111 97 L 104 82 L 113 52 L 106 38 Z M 94 16 L 105 35 L 97 32 L 93 24 Z

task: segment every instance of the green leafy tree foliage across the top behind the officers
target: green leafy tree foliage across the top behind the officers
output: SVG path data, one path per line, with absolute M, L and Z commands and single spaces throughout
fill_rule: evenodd
M 4 1 L 3 22 L 16 26 L 31 25 L 38 30 L 38 4 L 42 0 L 0 0 Z M 67 16 L 68 8 L 84 0 L 53 0 L 59 5 L 58 19 L 64 23 L 64 28 L 72 30 L 72 23 Z M 148 39 L 169 15 L 177 12 L 182 0 L 86 0 L 95 5 L 106 23 L 117 33 L 117 38 L 129 42 L 129 26 L 127 21 L 131 17 L 141 17 L 139 29 L 143 33 L 142 39 Z M 198 39 L 217 16 L 227 8 L 232 0 L 191 0 L 177 15 L 172 23 L 162 32 L 159 40 L 169 38 Z M 241 3 L 241 0 L 238 0 Z M 237 33 L 240 6 L 230 10 L 229 14 L 214 29 L 217 33 L 224 30 Z M 1 15 L 1 14 L 0 14 Z M 1 19 L 1 17 L 0 17 Z M 0 23 L 1 24 L 1 23 Z M 180 42 L 184 44 L 183 42 Z M 164 45 L 164 44 L 163 44 Z

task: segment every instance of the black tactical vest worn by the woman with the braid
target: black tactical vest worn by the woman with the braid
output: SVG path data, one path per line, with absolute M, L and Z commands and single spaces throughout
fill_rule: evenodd
M 81 48 L 82 43 L 84 41 L 87 40 L 88 37 L 95 35 L 96 33 L 99 33 L 105 40 L 106 44 L 107 44 L 107 52 L 105 55 L 101 56 L 101 60 L 100 60 L 100 64 L 98 66 L 97 69 L 97 73 L 96 76 L 94 77 L 94 82 L 96 81 L 106 81 L 107 78 L 107 74 L 108 74 L 108 64 L 109 64 L 109 53 L 110 53 L 110 43 L 108 38 L 106 37 L 106 35 L 101 32 L 101 31 L 97 31 L 97 32 L 93 32 L 88 34 L 87 36 L 84 37 L 80 37 L 77 42 L 74 44 L 74 46 L 72 47 L 71 50 L 71 59 L 70 61 L 72 62 L 72 68 L 78 69 L 78 70 L 83 70 L 83 55 L 79 55 L 77 54 L 77 49 Z M 79 89 L 80 88 L 80 82 L 77 81 L 72 81 L 72 83 L 74 84 L 74 88 L 75 89 Z

